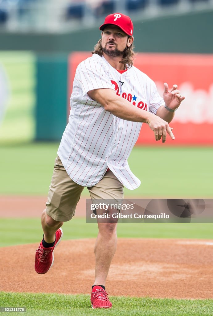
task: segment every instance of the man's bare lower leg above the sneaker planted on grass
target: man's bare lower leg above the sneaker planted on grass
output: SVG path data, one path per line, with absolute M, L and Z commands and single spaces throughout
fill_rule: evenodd
M 98 223 L 98 237 L 95 243 L 95 282 L 104 285 L 117 246 L 117 223 Z

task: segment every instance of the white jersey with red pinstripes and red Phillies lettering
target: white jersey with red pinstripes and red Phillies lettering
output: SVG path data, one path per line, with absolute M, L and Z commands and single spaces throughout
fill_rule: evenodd
M 93 54 L 77 67 L 69 122 L 58 155 L 70 178 L 80 185 L 95 185 L 109 167 L 123 185 L 136 189 L 140 180 L 131 172 L 127 159 L 142 123 L 119 119 L 105 111 L 87 94 L 98 88 L 114 89 L 135 106 L 154 114 L 164 105 L 155 83 L 143 72 L 132 67 L 120 74 L 104 57 Z

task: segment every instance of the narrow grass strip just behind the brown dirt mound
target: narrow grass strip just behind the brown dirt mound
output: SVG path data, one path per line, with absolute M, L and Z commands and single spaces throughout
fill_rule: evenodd
M 97 224 L 73 218 L 63 225 L 63 240 L 96 238 Z M 213 223 L 119 223 L 118 238 L 197 238 L 212 239 Z M 1 218 L 0 247 L 39 243 L 40 218 Z

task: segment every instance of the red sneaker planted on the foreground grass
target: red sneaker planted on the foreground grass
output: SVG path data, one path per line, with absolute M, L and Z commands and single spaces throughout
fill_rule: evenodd
M 91 293 L 92 308 L 111 308 L 107 292 L 99 285 L 95 285 Z

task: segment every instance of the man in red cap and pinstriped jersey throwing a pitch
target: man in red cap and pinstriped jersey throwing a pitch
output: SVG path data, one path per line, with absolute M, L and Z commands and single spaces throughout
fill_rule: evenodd
M 110 14 L 100 30 L 101 40 L 92 57 L 78 65 L 74 78 L 69 123 L 42 213 L 44 236 L 35 257 L 40 274 L 52 266 L 53 250 L 63 234 L 61 226 L 74 216 L 84 187 L 92 200 L 122 199 L 124 185 L 137 188 L 140 181 L 130 171 L 127 158 L 142 123 L 149 125 L 157 141 L 162 138 L 165 143 L 167 133 L 174 139 L 168 122 L 184 100 L 177 86 L 169 91 L 167 83 L 162 99 L 155 83 L 132 66 L 133 23 L 128 16 Z M 98 221 L 93 308 L 112 306 L 105 281 L 116 249 L 116 222 Z

